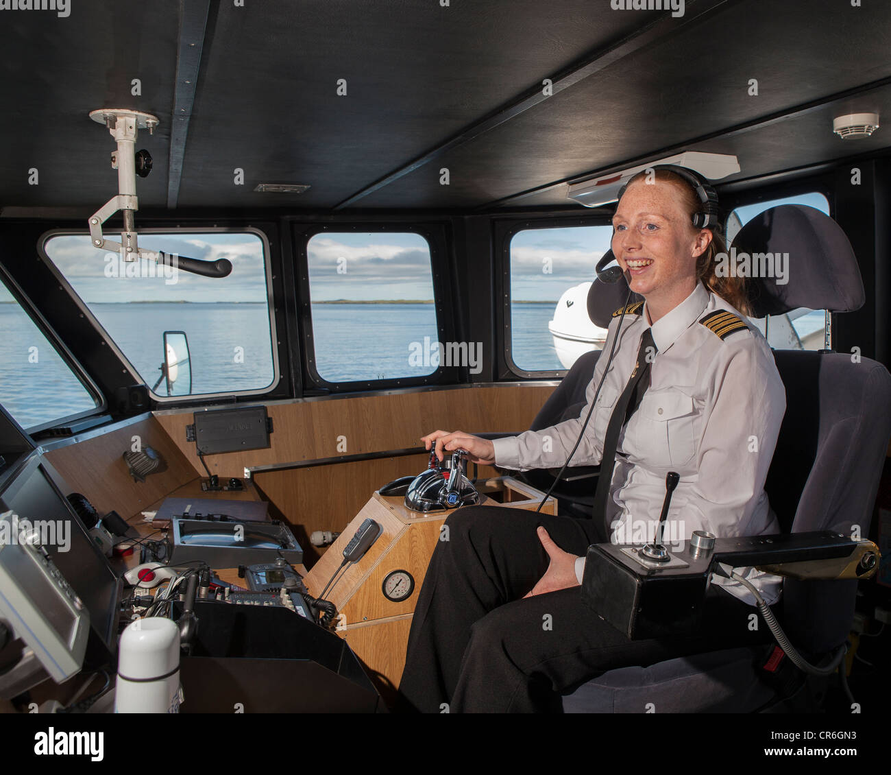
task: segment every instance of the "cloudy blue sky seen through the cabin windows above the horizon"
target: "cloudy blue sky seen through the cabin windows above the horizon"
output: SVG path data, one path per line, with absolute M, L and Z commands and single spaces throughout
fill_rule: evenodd
M 784 202 L 798 202 L 828 212 L 822 194 L 774 200 L 740 207 L 746 223 L 757 213 Z M 511 299 L 558 301 L 573 285 L 590 282 L 594 266 L 609 250 L 609 226 L 525 229 L 511 240 Z M 124 265 L 115 253 L 97 251 L 87 235 L 59 235 L 46 252 L 87 303 L 127 301 L 266 302 L 264 243 L 255 234 L 187 233 L 139 235 L 151 250 L 176 252 L 193 259 L 225 258 L 233 272 L 213 279 L 180 272 L 176 283 L 159 275 L 150 261 Z M 396 232 L 322 232 L 307 243 L 312 301 L 433 298 L 427 240 Z M 120 276 L 137 266 L 143 275 Z M 110 275 L 110 276 L 109 276 Z M 155 276 L 151 276 L 155 275 Z

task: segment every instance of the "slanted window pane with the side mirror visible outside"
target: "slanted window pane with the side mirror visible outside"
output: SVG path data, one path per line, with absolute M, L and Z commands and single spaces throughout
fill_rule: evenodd
M 192 259 L 228 259 L 233 270 L 213 278 L 147 260 L 124 263 L 118 253 L 95 250 L 88 235 L 53 235 L 44 250 L 159 399 L 270 388 L 277 367 L 264 240 L 254 233 L 145 231 L 139 244 Z M 184 363 L 176 390 L 159 383 L 165 332 L 188 339 L 191 388 Z

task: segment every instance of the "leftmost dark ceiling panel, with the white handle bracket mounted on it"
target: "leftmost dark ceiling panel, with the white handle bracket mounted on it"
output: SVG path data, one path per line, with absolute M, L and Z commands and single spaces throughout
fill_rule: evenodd
M 140 133 L 139 147 L 154 160 L 140 180 L 141 203 L 162 204 L 167 194 L 169 114 L 173 102 L 179 4 L 86 4 L 72 0 L 70 15 L 3 11 L 0 78 L 3 129 L 0 205 L 89 205 L 96 210 L 118 193 L 111 169 L 116 145 L 108 129 L 90 120 L 98 108 L 154 113 L 161 125 Z M 132 80 L 142 95 L 133 95 Z M 37 168 L 38 185 L 29 186 Z

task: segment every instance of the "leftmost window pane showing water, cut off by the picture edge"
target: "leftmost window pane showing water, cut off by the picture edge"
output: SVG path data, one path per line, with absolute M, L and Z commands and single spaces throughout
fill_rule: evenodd
M 0 403 L 26 430 L 94 411 L 99 403 L 0 283 Z

